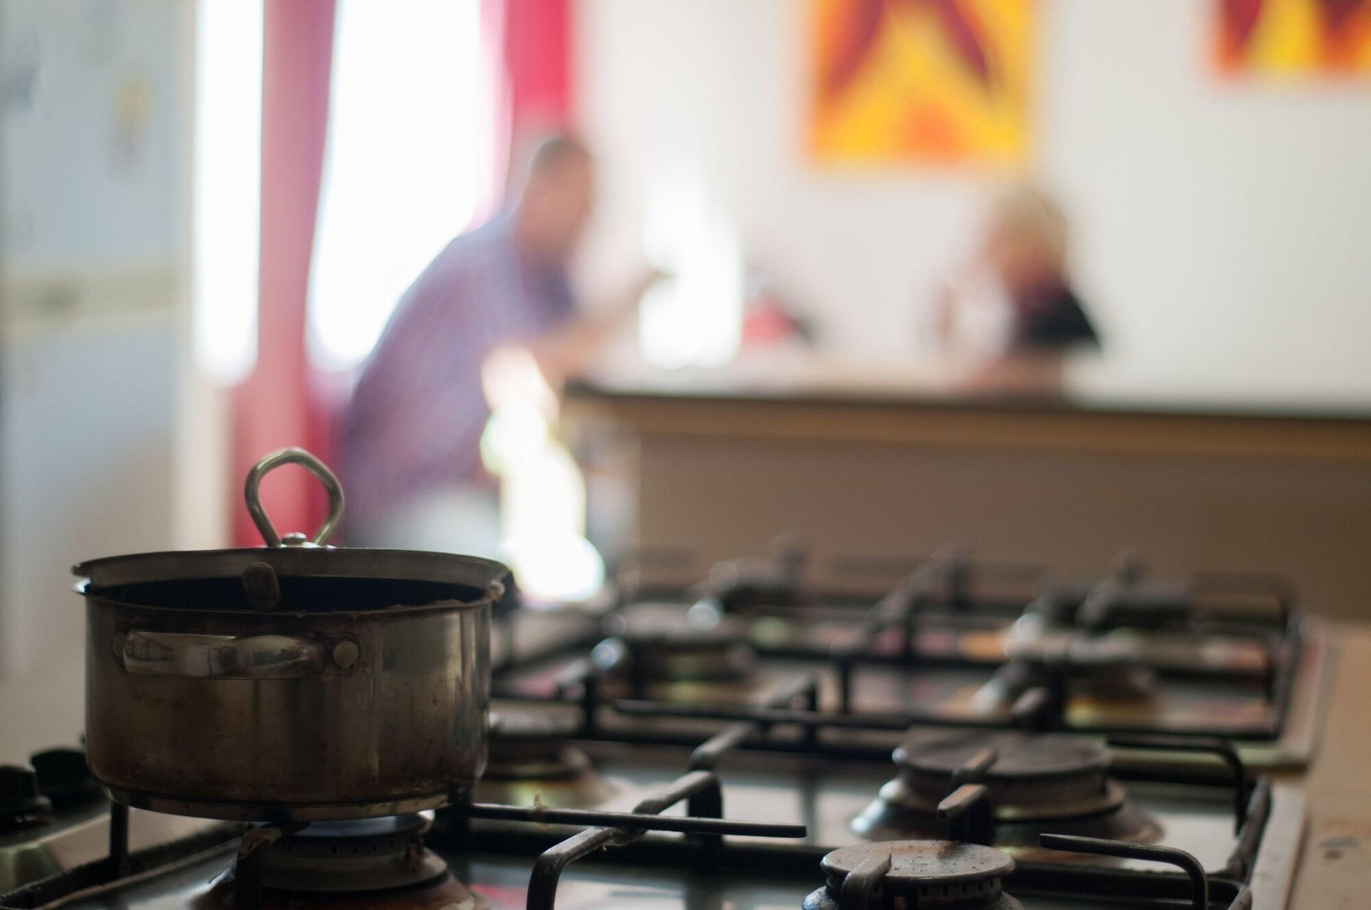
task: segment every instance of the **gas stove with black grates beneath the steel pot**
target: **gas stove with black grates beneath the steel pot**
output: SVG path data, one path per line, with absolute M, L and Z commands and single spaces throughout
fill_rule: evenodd
M 132 844 L 100 803 L 107 850 L 0 907 L 1283 906 L 1330 645 L 1278 581 L 801 571 L 498 617 L 470 802 Z

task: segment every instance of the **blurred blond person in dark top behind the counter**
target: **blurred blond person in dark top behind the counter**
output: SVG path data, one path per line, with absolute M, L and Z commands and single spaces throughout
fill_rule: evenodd
M 975 373 L 973 386 L 1050 391 L 1063 356 L 1100 339 L 1067 277 L 1067 219 L 1042 192 L 1019 186 L 994 201 L 975 269 L 1005 302 L 1008 319 L 995 356 Z M 947 344 L 967 302 L 947 289 L 942 334 Z

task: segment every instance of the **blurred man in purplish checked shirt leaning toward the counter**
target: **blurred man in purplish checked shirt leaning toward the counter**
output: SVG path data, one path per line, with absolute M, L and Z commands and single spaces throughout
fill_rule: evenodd
M 592 164 L 573 137 L 543 141 L 510 210 L 452 240 L 404 292 L 343 423 L 350 543 L 494 555 L 483 363 L 521 345 L 555 385 L 617 321 L 579 315 L 566 277 Z

